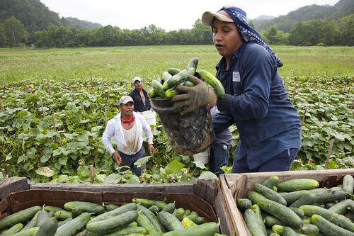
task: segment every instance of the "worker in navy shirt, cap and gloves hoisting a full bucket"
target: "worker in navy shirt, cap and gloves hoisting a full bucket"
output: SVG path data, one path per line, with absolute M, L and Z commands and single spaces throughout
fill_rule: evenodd
M 278 74 L 282 62 L 249 26 L 241 9 L 206 11 L 202 22 L 212 27 L 214 45 L 222 55 L 216 77 L 226 94 L 217 98 L 209 86 L 190 77 L 196 86 L 177 86 L 187 94 L 173 96 L 174 106 L 187 106 L 185 113 L 216 103 L 220 111 L 213 118 L 216 134 L 236 123 L 239 144 L 233 173 L 289 170 L 301 145 L 301 124 Z

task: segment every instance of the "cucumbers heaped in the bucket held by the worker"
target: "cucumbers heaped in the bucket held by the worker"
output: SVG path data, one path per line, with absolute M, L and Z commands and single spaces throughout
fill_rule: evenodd
M 179 94 L 175 88 L 178 84 L 183 86 L 193 87 L 195 84 L 191 82 L 188 77 L 190 75 L 194 75 L 198 77 L 210 86 L 215 91 L 215 94 L 219 98 L 223 98 L 225 95 L 224 86 L 214 75 L 207 72 L 205 69 L 201 69 L 197 72 L 198 66 L 198 58 L 193 57 L 188 62 L 186 69 L 177 69 L 177 68 L 169 68 L 167 72 L 162 74 L 162 79 L 154 79 L 152 81 L 152 87 L 148 91 L 148 95 L 150 98 L 160 97 L 162 99 L 172 98 L 173 96 Z

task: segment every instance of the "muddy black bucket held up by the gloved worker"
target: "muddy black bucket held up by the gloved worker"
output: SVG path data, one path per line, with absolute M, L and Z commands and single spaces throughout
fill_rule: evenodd
M 152 108 L 159 116 L 173 150 L 178 154 L 202 152 L 215 140 L 208 106 L 181 116 L 181 109 L 173 108 L 171 99 L 152 98 Z

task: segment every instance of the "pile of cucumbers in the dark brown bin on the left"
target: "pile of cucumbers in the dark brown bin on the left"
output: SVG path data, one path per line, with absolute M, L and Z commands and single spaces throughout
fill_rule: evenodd
M 84 201 L 69 201 L 64 209 L 33 206 L 0 221 L 0 236 L 221 236 L 218 229 L 195 211 L 144 198 L 122 206 Z

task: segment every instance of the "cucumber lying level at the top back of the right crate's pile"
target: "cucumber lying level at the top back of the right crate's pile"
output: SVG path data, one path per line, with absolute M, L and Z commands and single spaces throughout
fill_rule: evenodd
M 319 182 L 314 179 L 290 179 L 282 181 L 276 185 L 278 191 L 292 192 L 299 190 L 316 189 L 319 187 Z

